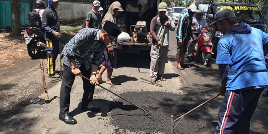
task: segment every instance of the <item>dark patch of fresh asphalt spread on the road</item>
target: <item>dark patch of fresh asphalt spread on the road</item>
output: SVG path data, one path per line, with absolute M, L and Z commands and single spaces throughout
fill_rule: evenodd
M 142 110 L 135 108 L 122 99 L 118 99 L 110 105 L 111 123 L 119 127 L 119 129 L 144 132 L 146 134 L 170 133 L 171 114 L 180 115 L 199 105 L 196 98 L 166 92 L 126 92 L 121 96 L 146 109 L 153 117 L 153 120 L 149 116 L 145 116 Z M 184 117 L 179 127 L 175 128 L 177 134 L 189 134 L 189 132 L 194 134 L 195 132 L 200 132 L 200 128 L 205 129 L 207 127 L 207 124 L 200 122 L 201 114 L 204 113 L 193 113 Z

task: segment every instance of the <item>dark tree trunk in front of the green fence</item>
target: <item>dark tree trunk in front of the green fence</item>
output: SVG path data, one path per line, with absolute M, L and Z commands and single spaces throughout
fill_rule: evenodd
M 20 35 L 20 6 L 19 0 L 12 0 L 12 34 Z

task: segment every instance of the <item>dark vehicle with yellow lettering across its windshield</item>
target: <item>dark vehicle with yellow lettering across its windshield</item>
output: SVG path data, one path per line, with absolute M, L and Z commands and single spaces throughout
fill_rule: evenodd
M 266 15 L 262 15 L 259 7 L 256 4 L 250 3 L 228 3 L 228 2 L 214 2 L 211 3 L 207 9 L 206 21 L 209 25 L 213 22 L 215 14 L 223 8 L 232 9 L 235 12 L 236 17 L 238 18 L 238 22 L 245 22 L 252 27 L 261 29 L 262 31 L 268 33 L 267 25 L 265 24 L 264 17 Z M 217 44 L 221 36 L 223 36 L 217 29 L 216 26 L 212 27 L 215 29 L 212 31 L 212 42 L 214 45 L 213 53 L 217 52 Z

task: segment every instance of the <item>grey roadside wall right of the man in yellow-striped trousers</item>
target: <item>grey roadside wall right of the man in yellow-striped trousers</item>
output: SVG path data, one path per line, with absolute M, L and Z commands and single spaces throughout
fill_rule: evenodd
M 60 2 L 57 7 L 58 15 L 62 18 L 62 24 L 82 23 L 87 12 L 91 10 L 89 3 Z

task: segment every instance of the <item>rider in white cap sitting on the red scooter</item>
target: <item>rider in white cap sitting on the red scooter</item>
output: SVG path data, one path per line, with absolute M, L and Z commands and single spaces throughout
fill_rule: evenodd
M 197 43 L 198 36 L 201 32 L 200 29 L 203 27 L 209 29 L 203 15 L 204 15 L 203 11 L 198 10 L 195 13 L 195 17 L 193 17 L 193 22 L 195 23 L 195 25 L 192 25 L 192 35 L 190 45 L 188 46 L 188 56 L 186 57 L 189 60 L 192 60 L 191 56 L 195 56 L 195 54 L 193 54 L 193 49 L 195 47 L 195 44 Z

